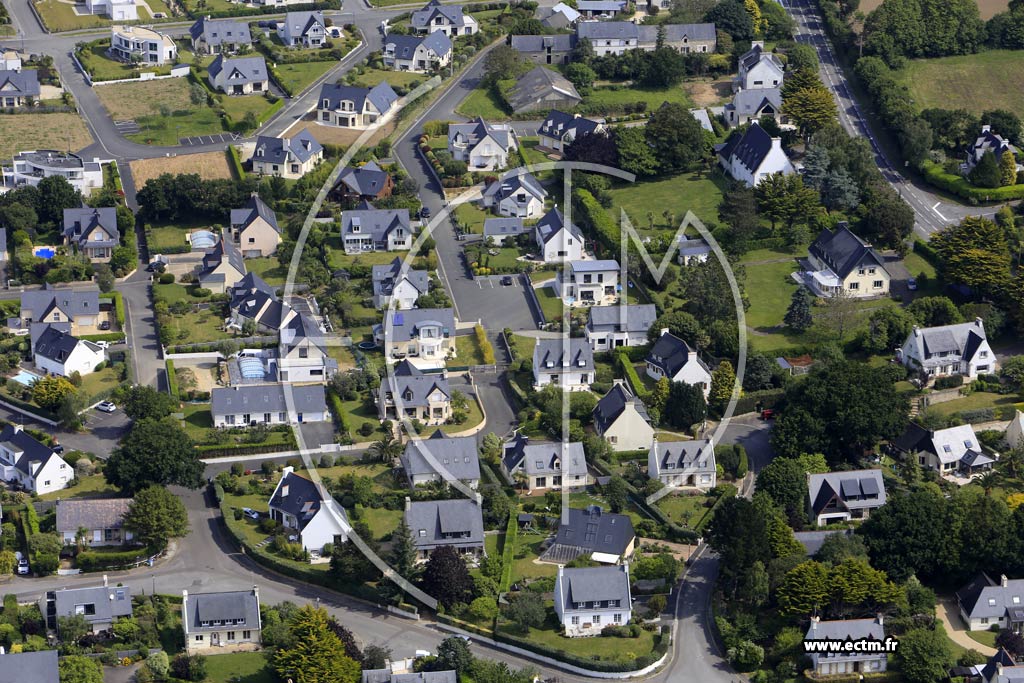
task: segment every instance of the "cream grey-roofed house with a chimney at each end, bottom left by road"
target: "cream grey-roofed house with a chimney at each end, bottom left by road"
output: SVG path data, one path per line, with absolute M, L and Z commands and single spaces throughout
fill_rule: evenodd
M 263 624 L 259 589 L 189 593 L 181 591 L 181 630 L 189 654 L 259 649 Z

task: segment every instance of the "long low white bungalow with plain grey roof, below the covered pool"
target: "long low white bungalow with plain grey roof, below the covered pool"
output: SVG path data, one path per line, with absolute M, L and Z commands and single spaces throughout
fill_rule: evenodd
M 214 427 L 327 422 L 323 384 L 217 387 L 210 394 Z

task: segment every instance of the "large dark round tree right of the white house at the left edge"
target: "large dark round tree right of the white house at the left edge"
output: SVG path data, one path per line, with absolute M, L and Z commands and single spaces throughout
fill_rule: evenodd
M 103 476 L 133 494 L 150 485 L 203 485 L 205 466 L 191 438 L 172 418 L 139 420 L 114 450 Z

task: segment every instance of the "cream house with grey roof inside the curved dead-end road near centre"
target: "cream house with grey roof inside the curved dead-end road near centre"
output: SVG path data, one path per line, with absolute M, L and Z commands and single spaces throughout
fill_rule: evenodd
M 426 375 L 409 360 L 397 362 L 394 371 L 381 380 L 378 391 L 377 408 L 381 420 L 404 417 L 433 426 L 442 425 L 452 418 L 452 388 L 447 377 L 444 374 Z M 406 474 L 409 475 L 409 469 Z

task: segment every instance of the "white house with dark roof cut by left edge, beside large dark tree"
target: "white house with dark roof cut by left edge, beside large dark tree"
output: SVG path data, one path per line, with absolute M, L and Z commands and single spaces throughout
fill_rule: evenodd
M 7 425 L 0 431 L 0 475 L 13 487 L 42 496 L 67 487 L 75 470 L 22 425 Z

